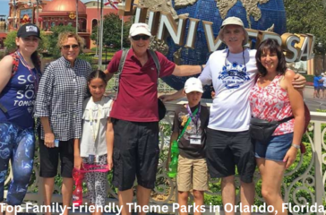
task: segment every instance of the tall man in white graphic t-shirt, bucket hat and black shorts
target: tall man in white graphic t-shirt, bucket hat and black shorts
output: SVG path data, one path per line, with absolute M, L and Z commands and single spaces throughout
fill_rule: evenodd
M 223 205 L 234 205 L 237 168 L 243 209 L 244 206 L 253 205 L 253 173 L 256 166 L 253 142 L 248 131 L 251 118 L 248 96 L 258 71 L 256 50 L 244 47 L 248 38 L 244 23 L 239 18 L 227 18 L 219 30 L 219 39 L 228 48 L 213 52 L 199 76 L 203 85 L 212 84 L 215 90 L 206 142 L 210 177 L 222 178 Z M 305 86 L 305 78 L 300 75 L 297 78 L 299 80 L 295 86 L 303 88 L 301 85 Z M 161 96 L 163 101 L 179 98 L 181 90 L 173 95 Z M 233 215 L 235 211 L 225 211 L 225 214 Z

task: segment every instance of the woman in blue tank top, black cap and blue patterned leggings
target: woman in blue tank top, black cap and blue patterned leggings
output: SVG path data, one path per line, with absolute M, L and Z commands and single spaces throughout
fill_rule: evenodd
M 36 25 L 21 26 L 16 38 L 17 51 L 0 61 L 0 202 L 4 201 L 4 177 L 11 159 L 13 180 L 7 193 L 8 205 L 21 204 L 33 168 L 33 108 L 40 76 L 39 40 Z

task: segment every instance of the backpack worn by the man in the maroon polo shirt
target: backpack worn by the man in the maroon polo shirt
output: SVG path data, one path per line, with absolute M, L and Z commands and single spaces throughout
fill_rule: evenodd
M 116 86 L 114 87 L 114 90 L 116 90 L 116 98 L 117 98 L 117 94 L 119 92 L 119 82 L 120 82 L 122 70 L 124 68 L 125 58 L 129 52 L 129 50 L 130 50 L 130 48 L 123 49 L 123 53 L 120 58 L 119 68 L 117 71 L 118 79 L 116 82 Z M 158 86 L 159 86 L 159 72 L 160 72 L 159 58 L 156 55 L 155 51 L 149 49 L 149 52 L 150 52 L 150 56 L 153 58 L 154 64 L 156 66 L 156 70 L 158 71 Z M 159 98 L 158 98 L 158 106 L 159 106 L 159 120 L 161 120 L 166 116 L 167 108 L 165 107 L 164 103 Z

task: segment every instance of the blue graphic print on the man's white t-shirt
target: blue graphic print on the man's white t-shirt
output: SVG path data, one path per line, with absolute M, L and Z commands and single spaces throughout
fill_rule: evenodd
M 226 64 L 222 70 L 219 73 L 219 80 L 225 84 L 227 89 L 238 89 L 245 81 L 250 80 L 244 64 L 238 64 L 237 62 Z

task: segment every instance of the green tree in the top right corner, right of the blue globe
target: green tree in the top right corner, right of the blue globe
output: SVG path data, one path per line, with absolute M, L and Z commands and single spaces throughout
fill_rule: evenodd
M 284 0 L 284 6 L 287 12 L 287 31 L 313 34 L 315 36 L 314 52 L 324 52 L 326 50 L 324 1 Z M 318 47 L 319 42 L 323 44 L 323 48 Z

